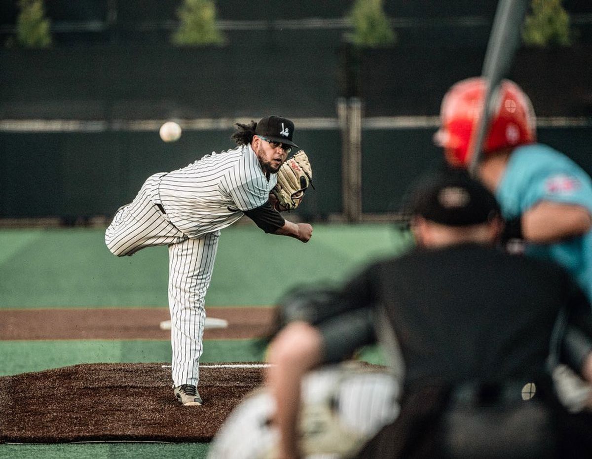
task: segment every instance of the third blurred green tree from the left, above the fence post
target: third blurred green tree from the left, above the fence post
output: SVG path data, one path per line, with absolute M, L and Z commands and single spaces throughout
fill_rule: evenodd
M 384 11 L 384 0 L 355 0 L 349 20 L 353 25 L 352 43 L 362 47 L 388 46 L 397 41 Z

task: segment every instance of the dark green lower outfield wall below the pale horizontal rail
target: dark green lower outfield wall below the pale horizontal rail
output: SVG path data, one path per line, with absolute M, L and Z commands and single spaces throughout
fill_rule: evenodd
M 366 124 L 371 127 L 362 130 L 362 212 L 394 212 L 413 180 L 441 161 L 432 143 L 436 127 Z M 111 215 L 134 198 L 149 174 L 177 169 L 220 147 L 231 147 L 231 132 L 185 130 L 173 144 L 163 143 L 157 130 L 0 132 L 4 147 L 0 216 Z M 297 215 L 324 219 L 341 214 L 339 129 L 303 129 L 297 137 L 310 154 L 316 186 Z M 592 125 L 539 129 L 540 141 L 561 148 L 592 174 L 591 138 Z

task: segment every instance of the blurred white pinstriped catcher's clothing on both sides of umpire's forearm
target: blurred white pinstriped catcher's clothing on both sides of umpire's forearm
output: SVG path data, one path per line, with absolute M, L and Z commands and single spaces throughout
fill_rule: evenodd
M 311 371 L 301 385 L 303 455 L 330 459 L 358 451 L 397 417 L 398 396 L 397 382 L 381 367 L 349 361 Z M 278 457 L 275 412 L 269 390 L 245 397 L 217 432 L 208 459 Z

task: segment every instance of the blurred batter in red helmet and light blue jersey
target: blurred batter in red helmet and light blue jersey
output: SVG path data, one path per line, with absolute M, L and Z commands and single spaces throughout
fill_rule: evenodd
M 561 264 L 592 299 L 592 180 L 564 154 L 536 143 L 535 112 L 516 83 L 504 80 L 499 90 L 478 175 L 500 202 L 506 240 L 524 241 L 527 255 Z M 484 93 L 484 80 L 475 77 L 442 100 L 435 142 L 453 167 L 471 162 Z

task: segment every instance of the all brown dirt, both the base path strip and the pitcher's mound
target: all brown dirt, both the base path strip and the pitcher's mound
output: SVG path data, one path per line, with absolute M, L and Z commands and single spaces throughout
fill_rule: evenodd
M 207 308 L 228 328 L 206 340 L 258 338 L 273 308 Z M 5 309 L 0 340 L 170 340 L 166 308 Z M 0 443 L 207 442 L 239 401 L 262 384 L 260 364 L 200 366 L 204 405 L 173 396 L 170 363 L 79 364 L 0 377 Z M 164 367 L 163 367 L 164 366 Z

